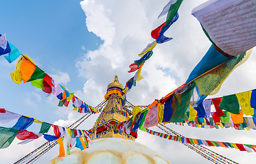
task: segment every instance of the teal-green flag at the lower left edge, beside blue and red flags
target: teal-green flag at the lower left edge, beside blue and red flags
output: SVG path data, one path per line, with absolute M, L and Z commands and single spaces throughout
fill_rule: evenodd
M 0 126 L 0 148 L 7 148 L 12 143 L 19 131 L 14 128 Z

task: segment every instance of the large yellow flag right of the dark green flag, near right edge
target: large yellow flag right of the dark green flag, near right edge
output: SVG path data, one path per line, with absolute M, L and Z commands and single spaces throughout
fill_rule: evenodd
M 241 92 L 238 94 L 235 94 L 237 96 L 237 99 L 240 103 L 242 112 L 245 115 L 253 115 L 253 109 L 251 108 L 251 93 L 252 91 L 246 91 L 246 92 Z

